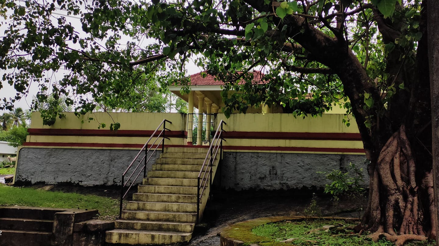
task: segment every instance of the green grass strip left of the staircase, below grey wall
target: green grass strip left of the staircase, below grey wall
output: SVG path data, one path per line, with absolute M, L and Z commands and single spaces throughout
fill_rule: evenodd
M 0 206 L 8 205 L 97 209 L 98 218 L 106 220 L 115 220 L 119 216 L 117 199 L 0 185 Z

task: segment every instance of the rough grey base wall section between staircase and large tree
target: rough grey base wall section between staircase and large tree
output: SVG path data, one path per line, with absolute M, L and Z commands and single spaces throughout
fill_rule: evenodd
M 221 177 L 217 173 L 214 182 L 234 190 L 320 188 L 330 181 L 317 172 L 344 170 L 349 162 L 363 168 L 367 186 L 366 156 L 309 153 L 224 152 Z

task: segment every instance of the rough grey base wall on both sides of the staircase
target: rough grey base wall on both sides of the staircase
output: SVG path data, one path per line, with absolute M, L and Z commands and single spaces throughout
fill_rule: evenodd
M 137 153 L 138 150 L 22 148 L 15 182 L 120 185 L 122 173 Z M 151 158 L 147 170 L 151 170 L 155 159 L 156 156 Z M 367 186 L 365 160 L 364 155 L 224 152 L 214 182 L 234 190 L 320 188 L 329 181 L 317 172 L 344 170 L 352 162 L 363 168 Z

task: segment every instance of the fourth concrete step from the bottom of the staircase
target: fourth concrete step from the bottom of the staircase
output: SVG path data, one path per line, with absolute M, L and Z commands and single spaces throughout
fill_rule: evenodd
M 130 201 L 127 210 L 144 211 L 169 211 L 169 212 L 197 212 L 197 203 L 169 203 L 169 202 L 145 202 Z

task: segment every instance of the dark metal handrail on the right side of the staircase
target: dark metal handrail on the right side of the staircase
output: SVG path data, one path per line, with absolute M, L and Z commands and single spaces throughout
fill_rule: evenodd
M 201 166 L 200 173 L 198 174 L 198 188 L 197 188 L 197 224 L 200 218 L 200 201 L 203 196 L 204 190 L 206 189 L 207 181 L 209 182 L 209 187 L 212 187 L 212 168 L 213 160 L 216 158 L 216 154 L 219 153 L 219 159 L 223 159 L 223 124 L 227 125 L 223 120 L 219 121 L 218 128 L 216 128 L 215 135 L 213 135 L 212 142 L 210 143 L 209 150 L 207 151 L 206 158 L 204 159 L 203 165 Z M 221 141 L 219 141 L 221 140 Z M 215 154 L 214 154 L 215 152 Z M 204 168 L 206 163 L 209 161 L 209 168 Z

